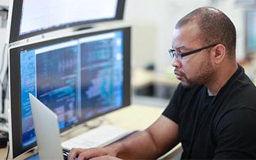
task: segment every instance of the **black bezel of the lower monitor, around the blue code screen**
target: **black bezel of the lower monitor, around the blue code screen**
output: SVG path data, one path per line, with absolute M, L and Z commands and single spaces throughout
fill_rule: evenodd
M 20 77 L 20 71 L 21 71 L 21 65 L 20 65 L 20 51 L 24 49 L 29 48 L 36 48 L 39 46 L 47 46 L 55 42 L 61 42 L 66 41 L 70 39 L 80 38 L 80 37 L 86 37 L 86 36 L 93 36 L 98 35 L 101 33 L 109 33 L 112 31 L 122 31 L 124 36 L 124 85 L 123 85 L 123 104 L 121 107 L 118 107 L 117 109 L 110 110 L 108 112 L 102 113 L 107 114 L 110 112 L 113 112 L 115 110 L 122 109 L 123 107 L 127 107 L 131 104 L 131 85 L 130 85 L 130 46 L 131 46 L 131 28 L 130 27 L 124 27 L 124 28 L 112 28 L 107 30 L 101 30 L 101 31 L 92 31 L 92 32 L 86 32 L 86 33 L 74 33 L 72 36 L 64 36 L 60 38 L 53 38 L 47 41 L 40 41 L 36 43 L 29 43 L 29 44 L 23 44 L 20 46 L 14 46 L 9 49 L 9 82 L 10 82 L 10 126 L 9 126 L 9 142 L 10 142 L 10 152 L 11 152 L 11 158 L 14 159 L 18 156 L 21 156 L 22 154 L 26 153 L 27 151 L 30 151 L 36 146 L 36 143 L 30 144 L 23 148 L 22 146 L 22 130 L 21 130 L 21 77 Z M 19 106 L 19 107 L 17 107 Z M 82 121 L 78 122 L 78 124 L 73 124 L 70 127 L 67 127 L 65 129 L 62 129 L 61 132 L 65 132 L 67 129 L 70 129 L 72 127 L 75 127 L 79 124 L 82 124 L 90 119 L 93 119 L 95 117 L 102 116 L 102 114 L 96 114 L 94 117 L 90 117 L 88 119 L 83 119 Z

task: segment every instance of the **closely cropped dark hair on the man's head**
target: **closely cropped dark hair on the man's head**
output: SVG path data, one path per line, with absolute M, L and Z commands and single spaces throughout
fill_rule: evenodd
M 221 43 L 227 49 L 228 57 L 235 58 L 236 33 L 233 22 L 222 11 L 213 7 L 201 7 L 181 18 L 175 28 L 197 23 L 205 45 Z

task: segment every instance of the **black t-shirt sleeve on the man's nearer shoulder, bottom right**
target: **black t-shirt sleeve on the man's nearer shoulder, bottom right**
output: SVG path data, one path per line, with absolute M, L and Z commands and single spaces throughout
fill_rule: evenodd
M 216 127 L 215 138 L 214 159 L 256 159 L 256 111 L 228 112 Z

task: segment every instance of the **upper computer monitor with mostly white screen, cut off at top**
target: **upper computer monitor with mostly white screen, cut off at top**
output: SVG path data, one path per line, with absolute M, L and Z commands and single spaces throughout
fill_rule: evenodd
M 9 42 L 70 26 L 123 18 L 125 0 L 11 0 Z

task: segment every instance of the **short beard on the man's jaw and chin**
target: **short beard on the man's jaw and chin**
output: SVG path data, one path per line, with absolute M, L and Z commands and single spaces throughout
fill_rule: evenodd
M 185 80 L 181 81 L 183 87 L 193 87 L 198 85 L 204 85 L 210 80 L 211 75 L 213 75 L 213 65 L 210 63 L 210 55 L 207 54 L 205 58 L 201 61 L 198 70 L 193 73 L 192 78 L 188 78 L 186 73 L 182 73 Z

